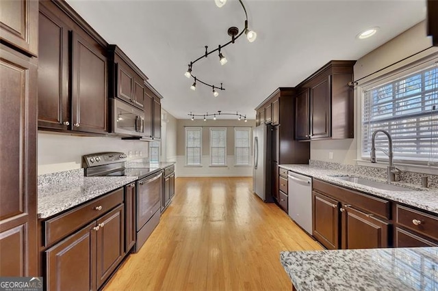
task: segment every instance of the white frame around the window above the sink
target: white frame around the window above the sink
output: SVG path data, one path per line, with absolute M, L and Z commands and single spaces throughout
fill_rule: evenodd
M 356 87 L 356 94 L 359 97 L 357 102 L 357 163 L 359 165 L 374 165 L 379 167 L 380 164 L 387 165 L 389 158 L 384 156 L 378 156 L 378 163 L 377 164 L 371 164 L 370 163 L 370 157 L 363 156 L 363 109 L 365 106 L 365 92 L 369 89 L 372 89 L 374 87 L 378 87 L 380 85 L 384 85 L 386 83 L 393 83 L 396 82 L 398 79 L 401 79 L 403 77 L 408 77 L 409 74 L 413 74 L 415 72 L 420 72 L 422 70 L 426 70 L 428 67 L 437 66 L 438 62 L 438 53 L 433 53 L 430 55 L 423 56 L 420 59 L 417 60 L 411 60 L 411 61 L 405 61 L 401 66 L 399 65 L 398 68 L 394 68 L 395 66 L 391 66 L 389 68 L 386 68 L 383 70 L 383 72 L 375 73 L 372 75 L 369 75 L 367 77 L 364 77 L 363 80 L 357 85 Z M 383 162 L 383 163 L 381 163 Z M 418 168 L 418 169 L 424 169 L 424 172 L 428 172 L 428 169 L 430 167 L 436 167 L 437 163 L 433 163 L 435 165 L 429 165 L 428 161 L 421 161 L 418 159 L 401 159 L 398 158 L 397 155 L 394 155 L 394 162 L 396 162 L 398 165 L 404 165 L 409 168 Z M 380 167 L 384 167 L 384 165 L 381 165 Z M 427 169 L 428 168 L 428 169 Z

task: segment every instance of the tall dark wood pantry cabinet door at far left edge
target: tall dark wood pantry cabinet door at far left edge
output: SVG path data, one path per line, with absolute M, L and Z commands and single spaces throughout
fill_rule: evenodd
M 0 277 L 37 274 L 37 66 L 30 61 L 0 44 Z

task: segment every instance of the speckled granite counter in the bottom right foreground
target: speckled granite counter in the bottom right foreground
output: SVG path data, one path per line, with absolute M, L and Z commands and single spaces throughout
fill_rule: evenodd
M 294 288 L 311 290 L 438 290 L 438 247 L 283 251 Z

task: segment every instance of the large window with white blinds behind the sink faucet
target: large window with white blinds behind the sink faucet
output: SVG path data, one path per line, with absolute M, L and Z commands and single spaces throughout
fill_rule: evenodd
M 364 91 L 362 158 L 370 158 L 374 130 L 387 130 L 393 141 L 394 161 L 438 162 L 438 68 L 410 73 Z M 388 150 L 385 135 L 376 135 L 376 148 Z M 382 151 L 378 158 L 387 159 Z

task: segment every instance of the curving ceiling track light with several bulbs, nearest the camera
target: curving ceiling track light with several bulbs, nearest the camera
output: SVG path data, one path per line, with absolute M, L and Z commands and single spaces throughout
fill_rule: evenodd
M 193 85 L 190 87 L 192 90 L 196 89 L 196 77 L 192 74 L 192 66 L 193 64 L 196 63 L 196 61 L 199 61 L 200 59 L 203 59 L 204 57 L 208 57 L 208 55 L 210 55 L 211 53 L 214 53 L 216 51 L 218 51 L 218 55 L 219 55 L 219 62 L 220 64 L 223 66 L 224 64 L 227 64 L 227 58 L 220 52 L 221 48 L 224 48 L 225 46 L 229 45 L 229 44 L 234 44 L 235 40 L 237 40 L 237 38 L 240 38 L 240 36 L 242 36 L 243 33 L 245 33 L 246 38 L 248 39 L 249 42 L 254 42 L 255 39 L 257 38 L 257 33 L 255 33 L 255 31 L 248 29 L 248 14 L 246 13 L 246 8 L 244 6 L 243 0 L 238 0 L 240 5 L 242 5 L 242 8 L 244 10 L 245 13 L 245 23 L 244 23 L 244 29 L 242 29 L 242 31 L 240 31 L 239 33 L 239 29 L 237 29 L 237 27 L 230 27 L 228 29 L 228 34 L 229 36 L 231 36 L 231 40 L 225 44 L 219 45 L 218 48 L 212 50 L 212 51 L 208 51 L 208 46 L 205 46 L 205 53 L 203 55 L 201 55 L 201 57 L 198 57 L 197 59 L 195 59 L 194 61 L 191 61 L 190 64 L 188 65 L 189 68 L 187 70 L 187 72 L 184 73 L 185 77 L 192 77 L 195 79 Z M 218 8 L 221 8 L 223 5 L 225 5 L 225 3 L 227 3 L 227 0 L 214 0 L 214 2 L 216 3 L 216 5 L 218 6 Z M 209 83 L 203 82 L 199 79 L 197 79 L 197 81 L 199 83 L 202 83 L 206 86 L 212 87 L 213 88 L 213 95 L 215 97 L 218 96 L 218 92 L 216 92 L 216 89 L 220 89 L 220 90 L 224 90 L 225 88 L 222 87 L 222 83 L 220 84 L 220 87 L 216 86 L 216 85 L 211 85 Z

